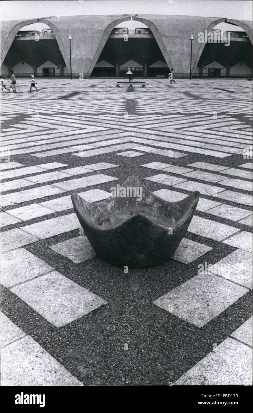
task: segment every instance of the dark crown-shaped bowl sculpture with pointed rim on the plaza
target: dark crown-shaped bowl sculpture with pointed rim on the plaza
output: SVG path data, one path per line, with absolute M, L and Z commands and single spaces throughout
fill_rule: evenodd
M 112 190 L 112 188 L 111 188 Z M 168 202 L 129 176 L 102 202 L 72 195 L 76 215 L 96 254 L 118 267 L 150 267 L 167 261 L 191 222 L 199 192 Z

